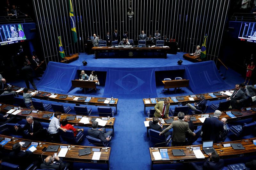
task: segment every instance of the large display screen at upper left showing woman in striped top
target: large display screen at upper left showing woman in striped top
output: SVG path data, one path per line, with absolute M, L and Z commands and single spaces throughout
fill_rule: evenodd
M 0 25 L 0 45 L 26 40 L 22 24 Z

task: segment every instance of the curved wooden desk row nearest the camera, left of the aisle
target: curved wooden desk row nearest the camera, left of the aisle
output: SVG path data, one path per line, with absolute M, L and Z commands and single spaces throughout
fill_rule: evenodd
M 12 138 L 11 136 L 6 136 L 6 135 L 0 135 L 0 137 L 7 137 L 7 138 Z M 4 148 L 8 151 L 12 151 L 12 145 L 17 143 L 17 142 L 21 142 L 23 140 L 25 141 L 31 141 L 31 140 L 28 140 L 28 139 L 22 139 L 22 138 L 15 138 L 16 141 L 13 142 L 11 140 L 11 142 L 8 142 L 7 144 L 4 145 Z M 33 142 L 40 142 L 40 141 L 34 141 Z M 44 144 L 45 143 L 45 144 Z M 37 146 L 36 147 L 36 151 L 33 152 L 33 155 L 34 157 L 36 158 L 40 158 L 41 159 L 41 155 L 43 158 L 46 158 L 47 156 L 50 156 L 50 155 L 53 155 L 54 152 L 45 152 L 43 154 L 42 152 L 42 149 L 44 147 L 48 147 L 49 145 L 62 145 L 62 146 L 68 146 L 68 144 L 56 144 L 56 143 L 50 143 L 50 142 L 42 142 L 42 146 Z M 28 147 L 30 146 L 30 144 L 28 145 Z M 110 151 L 111 151 L 111 147 L 109 147 L 108 149 L 108 152 L 105 151 L 105 149 L 102 149 L 102 147 L 97 147 L 97 146 L 80 146 L 80 145 L 70 145 L 71 147 L 71 150 L 68 150 L 67 154 L 65 157 L 62 157 L 63 160 L 66 160 L 66 161 L 72 161 L 72 162 L 83 162 L 83 163 L 99 163 L 99 164 L 107 164 L 108 165 L 108 169 L 109 169 L 109 156 L 110 156 Z M 75 147 L 73 147 L 75 146 Z M 27 148 L 22 148 L 22 150 L 27 150 Z M 79 154 L 79 150 L 80 149 L 84 149 L 84 148 L 91 148 L 91 151 L 92 151 L 92 148 L 100 148 L 100 152 L 101 152 L 101 155 L 100 155 L 100 160 L 92 160 L 92 156 L 93 156 L 93 153 L 92 152 L 91 154 L 88 154 L 88 155 L 84 155 L 84 156 L 78 156 Z M 58 149 L 58 152 L 60 152 L 60 147 Z

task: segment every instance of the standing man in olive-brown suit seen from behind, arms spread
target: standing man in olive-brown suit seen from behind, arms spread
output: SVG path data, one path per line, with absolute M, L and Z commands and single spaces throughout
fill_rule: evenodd
M 166 129 L 164 129 L 159 134 L 159 135 L 164 134 L 173 128 L 171 146 L 184 145 L 184 143 L 186 141 L 186 134 L 189 134 L 190 136 L 196 136 L 196 134 L 189 129 L 188 123 L 184 122 L 183 119 L 184 119 L 184 113 L 179 112 L 178 120 L 173 121 L 170 126 L 168 126 Z

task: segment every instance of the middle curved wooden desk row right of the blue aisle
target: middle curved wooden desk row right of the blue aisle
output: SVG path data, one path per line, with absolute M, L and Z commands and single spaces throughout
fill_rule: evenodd
M 251 108 L 255 108 L 256 106 L 253 106 Z M 248 107 L 249 108 L 249 107 Z M 238 121 L 238 120 L 242 120 L 242 119 L 248 119 L 248 118 L 252 118 L 252 117 L 256 117 L 256 112 L 253 111 L 252 109 L 250 110 L 246 110 L 246 108 L 242 109 L 242 110 L 238 110 L 238 109 L 234 109 L 234 110 L 228 110 L 228 111 L 240 111 L 243 115 L 236 115 L 236 118 L 231 118 L 230 116 L 228 116 L 226 114 L 226 111 L 225 112 L 222 112 L 221 115 L 220 115 L 220 118 L 219 120 L 221 120 L 223 117 L 227 118 L 227 122 L 233 122 L 233 121 Z M 203 114 L 203 115 L 211 115 L 213 113 L 208 113 L 208 114 Z M 202 125 L 203 123 L 199 120 L 199 118 L 201 118 L 201 115 L 190 115 L 190 116 L 194 116 L 196 118 L 196 121 L 192 121 L 194 126 L 200 126 Z M 178 118 L 177 117 L 170 117 L 170 118 L 173 118 L 174 120 L 177 120 Z M 164 120 L 166 120 L 166 118 L 164 118 Z M 148 118 L 146 117 L 146 121 L 153 121 L 153 118 Z M 160 121 L 159 121 L 159 124 L 162 124 Z M 163 128 L 167 128 L 168 126 L 171 125 L 170 124 L 162 124 L 163 125 Z M 149 127 L 147 127 L 147 135 L 148 135 L 148 129 Z

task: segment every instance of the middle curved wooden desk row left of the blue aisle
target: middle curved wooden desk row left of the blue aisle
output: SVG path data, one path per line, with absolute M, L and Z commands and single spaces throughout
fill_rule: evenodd
M 7 107 L 7 106 L 11 106 L 11 107 L 16 107 L 16 106 L 12 106 L 12 105 L 7 105 L 7 104 L 3 104 L 3 103 L 0 103 L 0 104 L 2 104 L 2 106 L 0 106 L 0 108 L 1 108 L 1 113 L 4 113 L 4 114 L 6 114 L 6 112 L 8 112 L 8 110 L 5 110 L 4 108 L 5 107 Z M 22 111 L 24 111 L 24 110 L 33 110 L 33 109 L 28 109 L 28 108 L 21 108 L 21 110 Z M 36 110 L 35 110 L 36 111 Z M 48 118 L 43 118 L 43 115 L 44 114 L 53 114 L 54 112 L 46 112 L 46 111 L 39 111 L 39 113 L 30 113 L 30 114 L 21 114 L 21 112 L 20 113 L 18 113 L 17 115 L 12 115 L 12 116 L 15 116 L 15 117 L 18 117 L 18 118 L 21 118 L 21 119 L 26 119 L 26 117 L 28 116 L 28 115 L 30 115 L 30 116 L 33 116 L 33 118 L 35 119 L 35 120 L 38 120 L 39 122 L 47 122 L 47 123 L 49 123 L 51 120 L 49 120 L 49 118 L 50 117 L 48 117 Z M 75 115 L 71 115 L 71 114 L 61 114 L 61 116 L 60 116 L 60 120 L 62 120 L 62 119 L 64 119 L 64 118 L 67 118 L 67 116 L 75 116 Z M 98 117 L 98 116 L 84 116 L 84 117 L 91 117 L 91 118 L 102 118 L 102 117 Z M 76 125 L 76 126 L 83 126 L 83 127 L 92 127 L 92 122 L 90 121 L 90 123 L 88 123 L 88 124 L 84 124 L 84 123 L 79 123 L 79 121 L 81 120 L 81 118 L 78 118 L 78 119 L 75 119 L 75 120 L 68 120 L 68 122 L 70 123 L 70 124 L 74 124 L 74 125 Z M 111 117 L 110 118 L 110 120 L 108 120 L 108 122 L 107 122 L 107 124 L 106 124 L 106 126 L 105 126 L 105 128 L 109 128 L 109 129 L 112 129 L 112 131 L 113 131 L 113 136 L 114 136 L 114 124 L 115 124 L 115 120 L 116 120 L 116 118 L 114 118 L 114 117 Z M 112 122 L 111 124 L 110 124 L 110 122 Z

